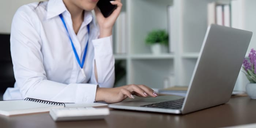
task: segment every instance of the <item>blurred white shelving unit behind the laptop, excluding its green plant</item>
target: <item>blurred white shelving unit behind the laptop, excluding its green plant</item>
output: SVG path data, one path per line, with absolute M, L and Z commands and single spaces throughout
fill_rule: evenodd
M 122 11 L 127 14 L 128 52 L 115 54 L 117 61 L 125 63 L 126 69 L 125 80 L 115 86 L 145 84 L 152 88 L 163 88 L 166 78 L 173 78 L 174 85 L 188 86 L 207 30 L 207 4 L 212 1 L 219 0 L 122 0 Z M 256 1 L 245 0 L 244 3 L 248 6 L 244 11 L 245 23 L 249 24 L 244 29 L 256 31 L 253 24 L 256 18 L 247 15 L 247 11 L 253 13 L 252 10 L 255 10 L 252 3 Z M 168 30 L 168 5 L 172 5 L 174 11 L 169 44 L 175 44 L 175 52 L 154 55 L 150 47 L 145 45 L 144 38 L 152 29 Z M 253 46 L 256 45 L 250 45 L 249 49 Z M 245 90 L 246 78 L 242 73 L 239 77 L 241 79 L 237 80 L 235 89 Z

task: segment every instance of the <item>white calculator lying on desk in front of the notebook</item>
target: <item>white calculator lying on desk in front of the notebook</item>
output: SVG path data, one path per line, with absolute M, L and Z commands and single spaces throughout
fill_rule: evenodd
M 59 108 L 51 109 L 54 121 L 99 120 L 109 115 L 108 108 Z

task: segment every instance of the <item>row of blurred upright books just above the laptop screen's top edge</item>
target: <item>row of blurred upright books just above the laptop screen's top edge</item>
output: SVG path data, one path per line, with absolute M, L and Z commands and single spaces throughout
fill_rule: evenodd
M 207 5 L 207 22 L 208 25 L 217 24 L 230 27 L 230 3 L 211 2 Z

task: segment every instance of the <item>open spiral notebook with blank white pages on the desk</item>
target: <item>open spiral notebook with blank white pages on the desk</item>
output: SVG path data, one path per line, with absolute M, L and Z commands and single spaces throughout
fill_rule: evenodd
M 18 114 L 49 112 L 54 108 L 97 107 L 105 103 L 61 103 L 41 99 L 26 98 L 24 100 L 0 101 L 0 114 L 12 116 Z

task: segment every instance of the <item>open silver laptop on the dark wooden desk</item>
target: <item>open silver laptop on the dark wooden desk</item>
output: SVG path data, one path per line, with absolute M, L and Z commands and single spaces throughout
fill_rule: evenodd
M 109 104 L 109 108 L 186 114 L 229 101 L 252 32 L 211 25 L 188 86 L 186 97 L 158 96 Z

